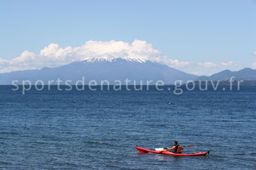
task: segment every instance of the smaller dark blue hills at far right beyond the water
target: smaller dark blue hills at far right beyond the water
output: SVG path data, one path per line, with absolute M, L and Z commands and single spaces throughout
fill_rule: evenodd
M 200 76 L 197 80 L 214 80 L 214 81 L 224 81 L 230 79 L 234 76 L 235 80 L 256 80 L 256 70 L 251 68 L 244 68 L 239 71 L 224 70 L 219 73 L 215 73 L 212 76 Z

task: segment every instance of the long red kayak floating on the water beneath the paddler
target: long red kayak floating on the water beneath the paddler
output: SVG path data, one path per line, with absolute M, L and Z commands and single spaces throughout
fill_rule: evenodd
M 150 152 L 154 154 L 166 154 L 166 155 L 174 155 L 174 156 L 206 156 L 206 155 L 209 155 L 210 153 L 210 151 L 207 151 L 207 152 L 199 152 L 195 154 L 175 154 L 169 151 L 152 151 L 150 149 L 140 148 L 138 146 L 136 146 L 135 148 L 142 154 Z

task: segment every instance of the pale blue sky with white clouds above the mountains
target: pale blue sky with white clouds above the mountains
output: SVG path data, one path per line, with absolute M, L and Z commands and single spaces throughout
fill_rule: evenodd
M 0 25 L 0 73 L 92 56 L 197 75 L 256 69 L 255 0 L 1 0 Z

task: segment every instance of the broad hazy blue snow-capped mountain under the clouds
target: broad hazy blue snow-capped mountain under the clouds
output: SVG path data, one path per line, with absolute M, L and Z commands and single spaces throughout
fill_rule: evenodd
M 38 79 L 42 80 L 44 84 L 48 84 L 48 80 L 53 80 L 52 84 L 56 84 L 58 78 L 63 81 L 60 84 L 65 84 L 64 81 L 66 80 L 72 81 L 69 84 L 75 84 L 83 76 L 85 85 L 90 80 L 96 80 L 98 84 L 101 80 L 108 80 L 111 84 L 116 84 L 114 81 L 120 80 L 125 85 L 125 79 L 132 81 L 129 84 L 133 84 L 133 81 L 140 84 L 142 81 L 145 85 L 147 80 L 152 80 L 154 83 L 157 80 L 162 80 L 165 84 L 172 84 L 177 79 L 187 81 L 198 77 L 156 62 L 116 58 L 111 61 L 97 59 L 76 61 L 55 68 L 44 67 L 41 70 L 2 73 L 0 74 L 0 84 L 10 85 L 13 80 L 17 80 L 17 84 L 22 84 L 23 80 L 30 80 L 34 84 Z

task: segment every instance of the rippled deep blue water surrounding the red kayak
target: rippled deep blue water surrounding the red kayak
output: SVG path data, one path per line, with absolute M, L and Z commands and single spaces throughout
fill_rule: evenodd
M 0 169 L 254 169 L 256 87 L 12 91 L 0 86 Z M 228 87 L 224 87 L 228 88 Z M 221 88 L 223 89 L 223 88 Z M 139 154 L 178 140 L 184 153 Z

